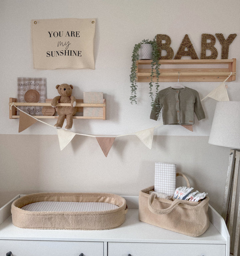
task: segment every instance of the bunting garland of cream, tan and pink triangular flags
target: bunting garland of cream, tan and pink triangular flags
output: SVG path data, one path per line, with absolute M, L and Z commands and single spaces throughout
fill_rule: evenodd
M 229 77 L 231 75 L 232 75 L 232 72 L 229 75 Z M 215 88 L 213 91 L 211 91 L 201 101 L 203 101 L 207 97 L 210 97 L 210 98 L 215 99 L 217 101 L 229 101 L 229 97 L 228 97 L 227 90 L 226 90 L 226 85 L 225 85 L 225 82 L 227 81 L 227 79 L 224 80 L 223 83 L 221 83 L 217 88 Z M 53 127 L 54 129 L 56 129 L 56 127 L 54 127 L 53 125 L 45 123 L 42 120 L 39 120 L 39 119 L 35 118 L 34 116 L 31 116 L 28 113 L 22 111 L 17 106 L 15 106 L 14 102 L 11 103 L 10 109 L 12 108 L 12 106 L 14 106 L 16 109 L 18 109 L 20 111 L 18 132 L 24 131 L 25 129 L 27 129 L 31 125 L 35 124 L 37 121 L 42 122 L 44 124 L 47 124 L 47 125 Z M 58 134 L 60 150 L 63 150 L 69 144 L 69 142 L 74 138 L 74 136 L 76 134 L 78 134 L 78 135 L 82 135 L 82 136 L 95 137 L 97 139 L 98 144 L 101 147 L 104 155 L 107 157 L 107 155 L 108 155 L 108 153 L 109 153 L 109 151 L 110 151 L 110 149 L 113 145 L 113 142 L 115 141 L 115 138 L 116 137 L 121 137 L 121 136 L 136 135 L 144 143 L 145 146 L 147 146 L 149 149 L 151 149 L 152 148 L 152 140 L 153 140 L 154 129 L 156 127 L 160 126 L 160 125 L 162 125 L 162 124 L 159 124 L 155 127 L 145 129 L 145 130 L 142 130 L 142 131 L 138 131 L 138 132 L 135 132 L 135 133 L 116 135 L 116 136 L 112 136 L 112 137 L 109 137 L 109 136 L 100 137 L 100 136 L 95 136 L 95 135 L 90 135 L 90 134 L 74 133 L 74 132 L 70 132 L 70 131 L 64 130 L 64 129 L 57 129 L 57 134 Z M 189 131 L 193 131 L 192 125 L 182 125 L 182 126 L 186 129 L 188 129 Z

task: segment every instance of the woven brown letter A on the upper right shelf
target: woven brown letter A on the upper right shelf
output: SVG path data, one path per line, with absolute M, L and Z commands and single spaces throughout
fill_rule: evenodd
M 185 50 L 185 48 L 187 48 L 187 51 Z M 174 59 L 181 59 L 182 56 L 191 56 L 192 59 L 198 59 L 197 53 L 194 50 L 193 45 L 187 34 L 184 36 Z

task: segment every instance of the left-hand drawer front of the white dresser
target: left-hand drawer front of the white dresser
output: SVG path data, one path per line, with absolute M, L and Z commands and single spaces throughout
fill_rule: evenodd
M 0 255 L 103 256 L 103 242 L 0 240 Z

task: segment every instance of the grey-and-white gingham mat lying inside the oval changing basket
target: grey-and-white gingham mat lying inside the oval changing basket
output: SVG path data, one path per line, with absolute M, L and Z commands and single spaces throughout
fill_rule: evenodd
M 21 209 L 31 212 L 97 212 L 117 209 L 118 206 L 100 202 L 36 202 Z

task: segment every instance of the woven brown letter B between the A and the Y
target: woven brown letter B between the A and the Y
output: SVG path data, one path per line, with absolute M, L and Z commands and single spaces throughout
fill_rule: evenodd
M 210 40 L 207 43 L 207 39 Z M 216 38 L 211 34 L 202 34 L 201 41 L 201 59 L 216 59 L 218 55 L 217 49 L 213 46 L 216 43 Z M 212 53 L 210 56 L 206 56 L 206 50 L 210 50 Z

